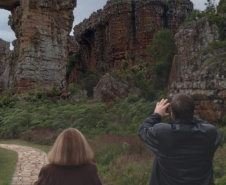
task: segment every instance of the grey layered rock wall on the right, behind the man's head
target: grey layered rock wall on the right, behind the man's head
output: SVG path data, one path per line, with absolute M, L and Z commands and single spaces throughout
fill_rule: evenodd
M 175 56 L 169 80 L 169 96 L 192 95 L 196 113 L 211 123 L 226 115 L 226 48 L 209 45 L 218 40 L 218 29 L 207 19 L 183 26 L 175 35 Z

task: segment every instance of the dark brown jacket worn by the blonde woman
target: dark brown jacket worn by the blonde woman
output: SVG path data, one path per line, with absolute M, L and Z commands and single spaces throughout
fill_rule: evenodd
M 59 166 L 48 164 L 42 167 L 34 185 L 101 185 L 96 165 Z

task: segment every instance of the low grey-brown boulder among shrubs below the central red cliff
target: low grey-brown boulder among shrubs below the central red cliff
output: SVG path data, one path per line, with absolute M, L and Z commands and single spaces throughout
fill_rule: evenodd
M 124 99 L 132 94 L 140 94 L 140 90 L 134 84 L 130 84 L 126 80 L 116 79 L 109 73 L 106 73 L 95 87 L 94 99 L 109 102 L 116 97 Z

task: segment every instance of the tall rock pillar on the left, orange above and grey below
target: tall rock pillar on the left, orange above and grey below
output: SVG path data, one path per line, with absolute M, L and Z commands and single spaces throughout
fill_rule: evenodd
M 76 0 L 1 1 L 10 10 L 9 25 L 17 40 L 9 63 L 8 87 L 19 92 L 56 84 L 65 87 L 69 33 Z

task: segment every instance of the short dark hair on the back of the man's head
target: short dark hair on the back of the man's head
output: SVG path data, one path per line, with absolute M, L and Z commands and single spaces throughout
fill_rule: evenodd
M 195 103 L 190 95 L 185 93 L 175 94 L 170 105 L 175 119 L 191 120 L 193 118 Z

